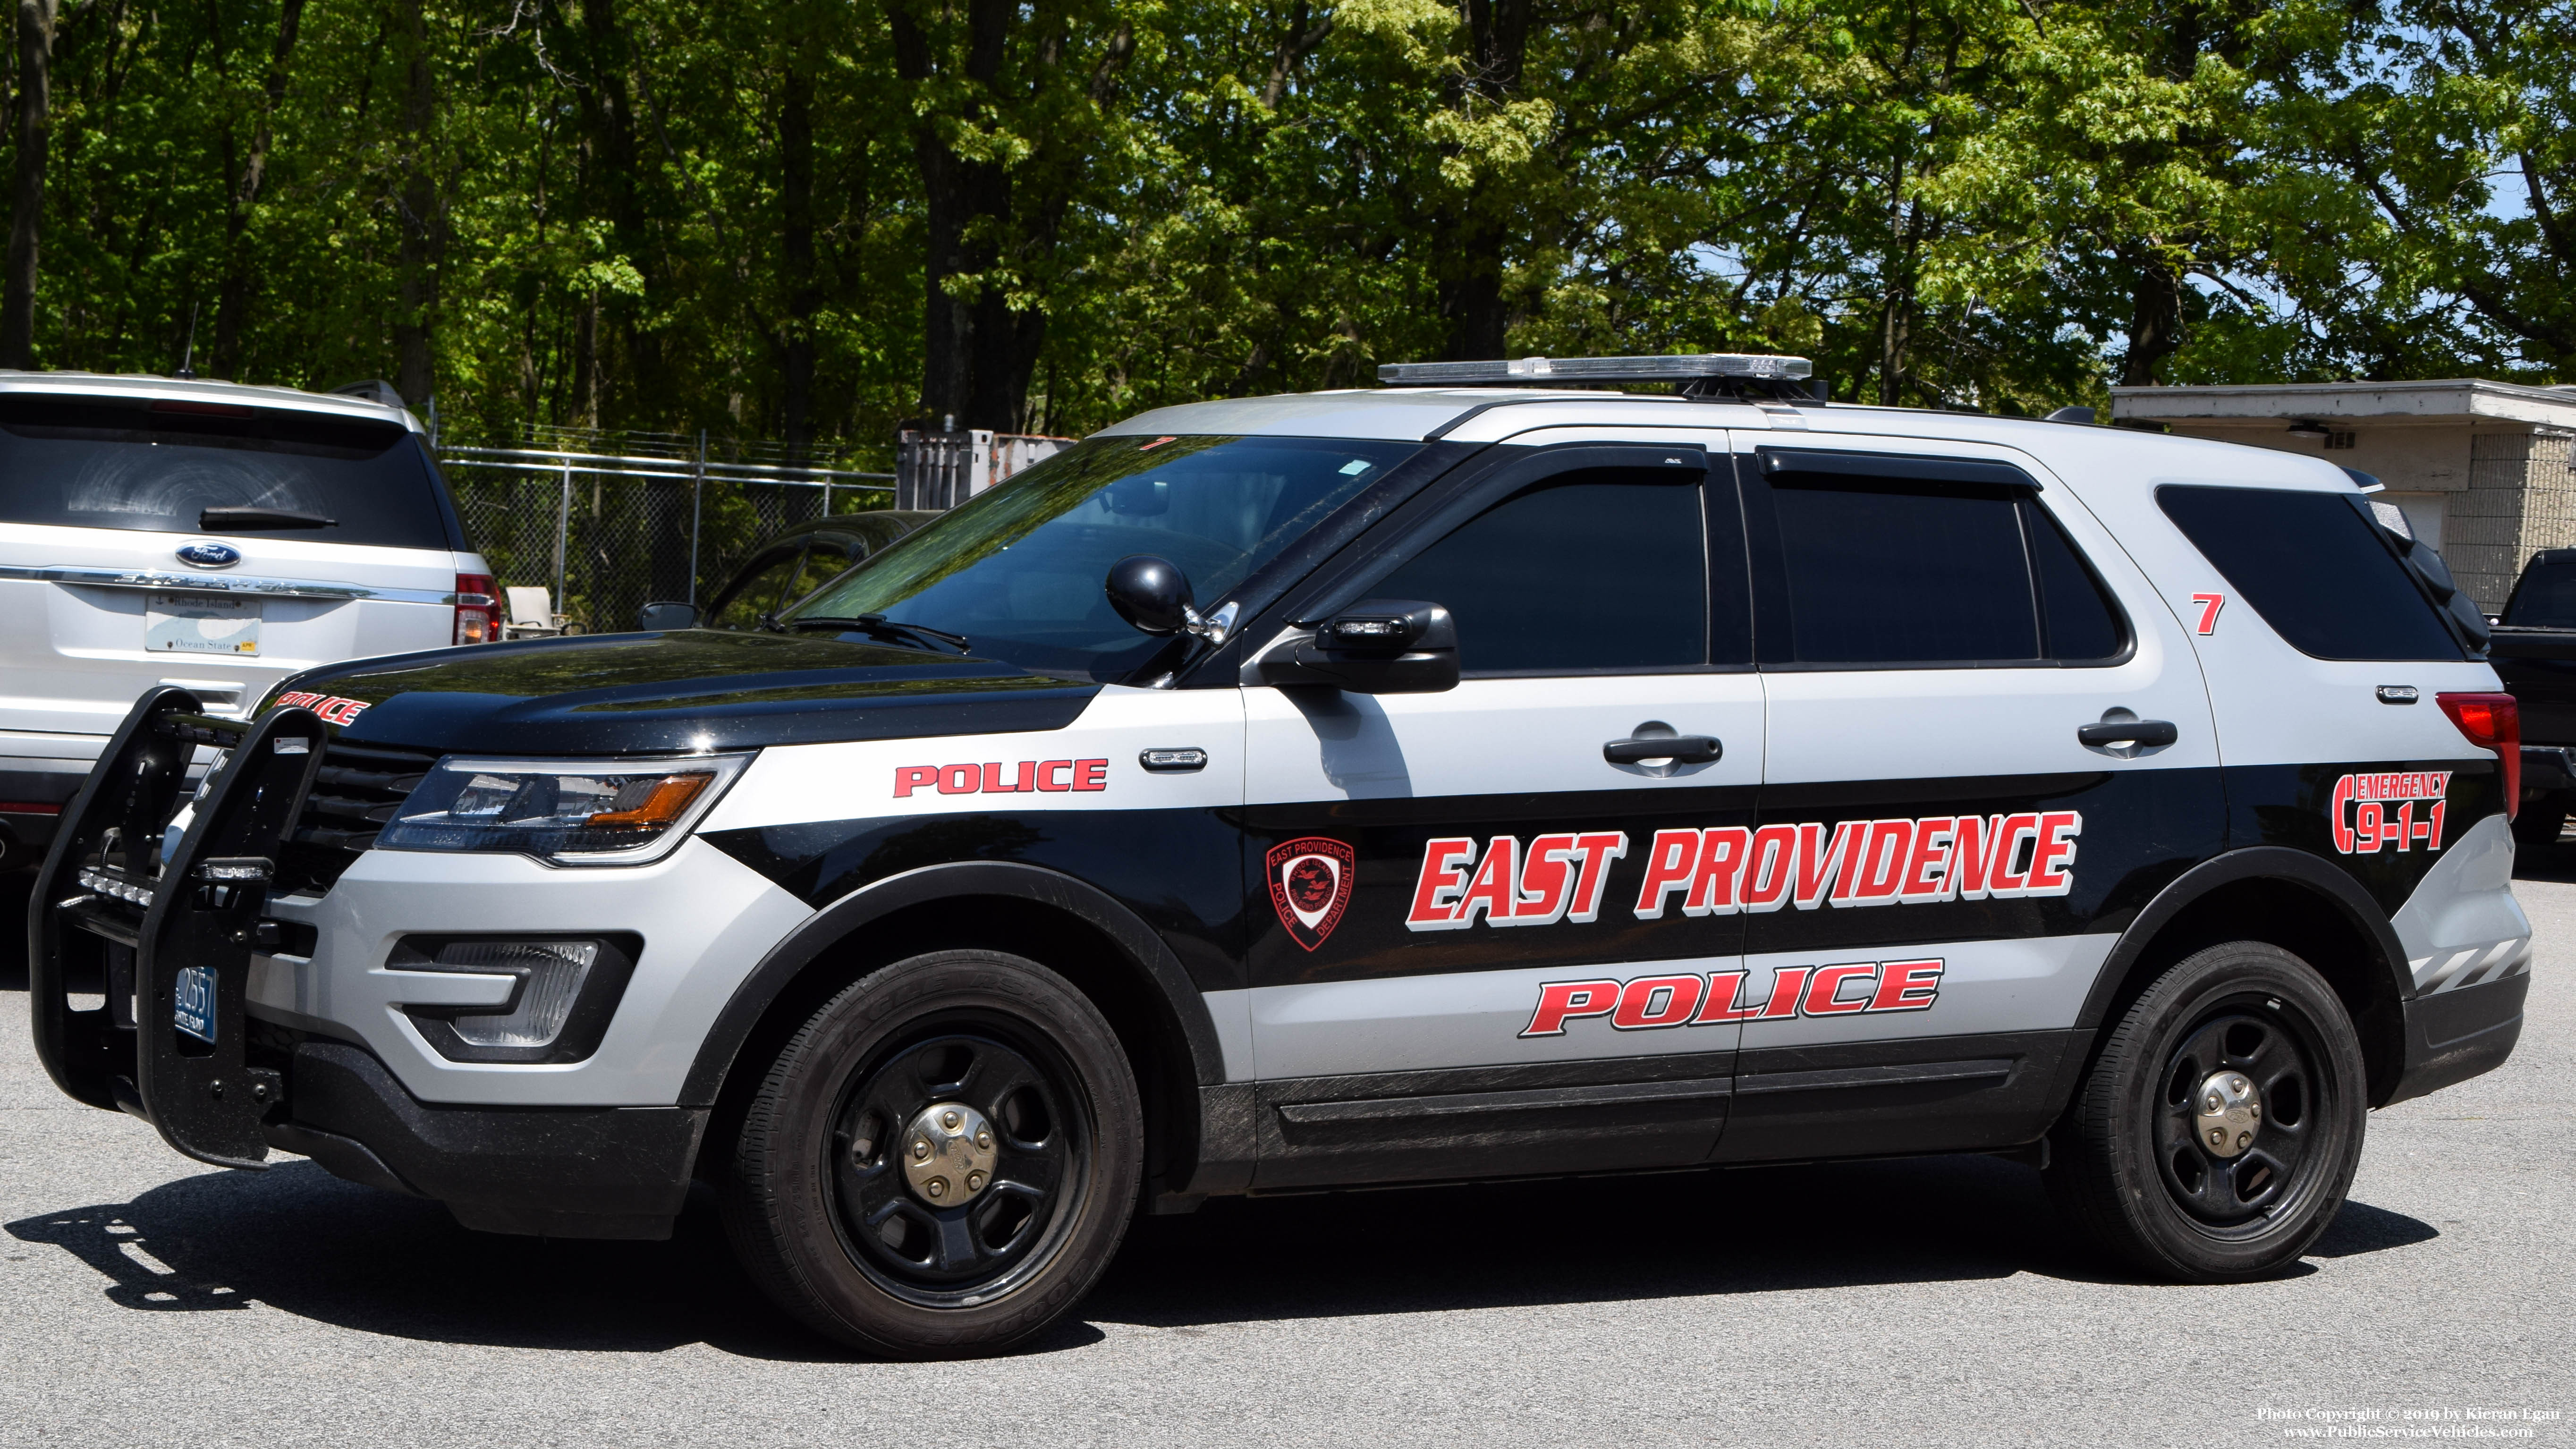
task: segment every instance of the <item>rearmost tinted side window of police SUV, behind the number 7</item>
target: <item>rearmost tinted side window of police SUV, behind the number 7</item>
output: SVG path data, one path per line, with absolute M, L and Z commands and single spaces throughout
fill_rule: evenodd
M 2318 660 L 2463 657 L 2352 498 L 2166 485 L 2156 503 L 2298 652 Z

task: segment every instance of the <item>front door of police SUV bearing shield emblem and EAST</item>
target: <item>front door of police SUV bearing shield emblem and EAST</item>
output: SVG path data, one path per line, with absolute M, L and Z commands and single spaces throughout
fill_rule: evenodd
M 1762 773 L 1734 480 L 1512 454 L 1298 614 L 1440 603 L 1455 688 L 1244 688 L 1262 1186 L 1680 1165 L 1723 1124 L 1741 920 L 1695 864 Z M 1656 732 L 1716 758 L 1607 758 Z

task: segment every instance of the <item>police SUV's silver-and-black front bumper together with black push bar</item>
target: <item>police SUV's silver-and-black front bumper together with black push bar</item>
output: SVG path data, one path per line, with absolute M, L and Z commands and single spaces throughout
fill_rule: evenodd
M 209 743 L 232 766 L 162 859 L 162 822 Z M 304 709 L 245 727 L 178 688 L 137 701 L 36 877 L 28 995 L 46 1073 L 204 1163 L 260 1168 L 286 1147 L 451 1201 L 477 1227 L 652 1232 L 708 1106 L 680 1101 L 698 1042 L 811 910 L 703 841 L 616 869 L 363 851 L 330 887 L 291 887 L 322 895 L 273 895 L 307 879 L 281 861 L 314 833 L 299 822 L 332 779 L 325 745 Z M 497 1006 L 459 995 L 489 993 L 489 977 L 392 962 L 404 936 L 592 931 L 641 951 L 603 995 L 598 1047 L 567 1062 L 443 1057 L 407 1008 Z

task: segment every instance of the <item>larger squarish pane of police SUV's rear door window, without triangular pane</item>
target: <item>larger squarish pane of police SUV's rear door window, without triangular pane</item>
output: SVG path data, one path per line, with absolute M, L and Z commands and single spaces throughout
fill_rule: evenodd
M 1770 498 L 1798 663 L 2040 657 L 2014 490 L 1834 477 Z

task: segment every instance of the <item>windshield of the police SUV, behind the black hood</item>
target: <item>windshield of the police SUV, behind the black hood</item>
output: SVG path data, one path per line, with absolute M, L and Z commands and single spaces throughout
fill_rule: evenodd
M 1162 554 L 1211 608 L 1252 570 L 1422 443 L 1352 438 L 1092 438 L 979 492 L 788 614 L 881 614 L 963 634 L 987 660 L 1123 678 L 1162 639 L 1110 608 L 1103 580 Z

